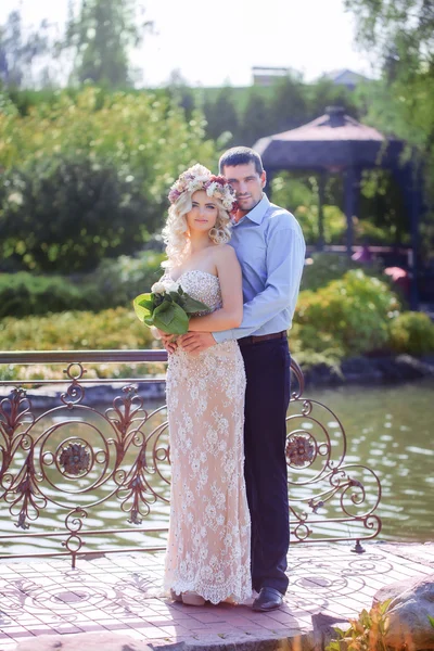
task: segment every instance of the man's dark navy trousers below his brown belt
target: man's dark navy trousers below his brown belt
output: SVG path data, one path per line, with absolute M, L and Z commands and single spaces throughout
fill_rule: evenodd
M 282 595 L 290 544 L 285 416 L 291 357 L 286 339 L 240 343 L 247 376 L 245 483 L 252 520 L 252 584 Z

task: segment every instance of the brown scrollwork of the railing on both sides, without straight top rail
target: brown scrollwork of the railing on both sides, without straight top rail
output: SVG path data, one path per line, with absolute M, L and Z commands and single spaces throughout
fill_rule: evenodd
M 373 538 L 381 529 L 374 513 L 380 481 L 371 469 L 345 463 L 341 422 L 324 405 L 303 397 L 303 373 L 295 362 L 292 370 L 297 388 L 285 447 L 291 538 L 295 542 Z M 0 401 L 0 498 L 23 532 L 46 508 L 55 509 L 56 525 L 62 514 L 63 533 L 53 535 L 63 536 L 75 562 L 97 534 L 92 519 L 105 508 L 116 518 L 117 505 L 123 526 L 152 524 L 155 511 L 167 523 L 170 449 L 165 407 L 146 411 L 136 385 L 124 386 L 112 407 L 100 411 L 85 404 L 82 363 L 69 363 L 65 372 L 69 385 L 59 406 L 39 416 L 21 387 Z M 327 523 L 341 527 L 342 535 L 324 535 L 321 527 Z M 116 531 L 105 529 L 104 535 Z

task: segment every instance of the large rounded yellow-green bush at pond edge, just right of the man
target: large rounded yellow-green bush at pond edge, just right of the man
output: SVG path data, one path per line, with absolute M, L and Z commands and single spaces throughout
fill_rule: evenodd
M 294 336 L 303 350 L 341 357 L 369 353 L 388 344 L 391 320 L 399 309 L 386 283 L 350 270 L 316 292 L 301 292 Z

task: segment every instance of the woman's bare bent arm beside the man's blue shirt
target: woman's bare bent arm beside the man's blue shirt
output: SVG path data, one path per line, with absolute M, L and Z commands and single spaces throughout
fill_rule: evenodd
M 217 252 L 216 252 L 217 253 Z M 210 315 L 192 317 L 191 332 L 217 332 L 238 328 L 243 319 L 243 290 L 240 263 L 232 246 L 222 246 L 216 255 L 222 307 Z

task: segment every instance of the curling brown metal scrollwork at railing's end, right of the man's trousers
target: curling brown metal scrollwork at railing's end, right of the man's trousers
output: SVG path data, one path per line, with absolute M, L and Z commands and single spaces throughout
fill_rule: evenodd
M 296 370 L 298 385 L 299 368 Z M 373 538 L 381 531 L 374 514 L 381 499 L 381 484 L 370 468 L 345 463 L 345 430 L 326 405 L 293 394 L 286 419 L 286 459 L 291 535 L 293 541 L 356 540 Z M 332 426 L 331 426 L 332 425 Z M 369 490 L 367 489 L 369 487 Z M 332 536 L 320 532 L 333 523 Z

